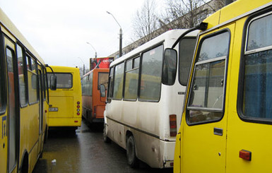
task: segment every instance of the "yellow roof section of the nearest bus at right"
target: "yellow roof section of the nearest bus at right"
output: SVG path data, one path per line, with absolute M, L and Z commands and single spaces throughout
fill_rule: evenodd
M 271 5 L 271 0 L 237 0 L 232 4 L 216 11 L 213 13 L 213 15 L 203 20 L 203 22 L 208 23 L 207 30 L 210 30 L 215 26 L 218 27 L 218 25 L 225 25 L 226 23 L 243 18 L 244 16 L 248 16 L 261 8 Z

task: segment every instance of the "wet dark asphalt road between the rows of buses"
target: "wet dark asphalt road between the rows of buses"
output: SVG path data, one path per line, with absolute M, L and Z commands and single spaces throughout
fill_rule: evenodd
M 170 173 L 172 169 L 153 169 L 143 162 L 138 169 L 129 167 L 124 149 L 115 143 L 104 143 L 102 124 L 90 128 L 83 121 L 76 133 L 67 129 L 49 131 L 42 158 L 33 172 Z

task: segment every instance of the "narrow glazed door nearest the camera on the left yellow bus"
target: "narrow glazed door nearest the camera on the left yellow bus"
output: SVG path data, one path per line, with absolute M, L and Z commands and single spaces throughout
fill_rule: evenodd
M 5 56 L 8 71 L 8 172 L 15 169 L 18 158 L 18 132 L 20 126 L 18 125 L 18 104 L 16 104 L 16 57 L 15 45 L 13 42 L 5 37 Z

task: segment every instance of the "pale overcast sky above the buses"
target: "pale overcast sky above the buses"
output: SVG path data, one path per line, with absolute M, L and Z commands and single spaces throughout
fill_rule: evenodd
M 163 1 L 163 0 L 160 0 Z M 135 13 L 144 0 L 0 0 L 0 7 L 23 33 L 45 63 L 89 66 L 89 58 L 119 51 L 131 43 Z M 159 0 L 156 0 L 159 3 Z M 86 42 L 90 42 L 87 44 Z M 82 59 L 79 59 L 80 57 Z

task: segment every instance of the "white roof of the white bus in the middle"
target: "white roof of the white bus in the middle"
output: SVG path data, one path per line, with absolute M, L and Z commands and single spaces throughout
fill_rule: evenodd
M 113 66 L 115 64 L 119 64 L 119 62 L 124 61 L 124 59 L 129 59 L 131 56 L 136 56 L 140 52 L 143 52 L 147 49 L 150 49 L 151 47 L 154 47 L 156 44 L 160 44 L 164 42 L 165 39 L 172 40 L 172 44 L 174 44 L 175 40 L 187 31 L 187 29 L 178 29 L 178 30 L 168 30 L 167 32 L 163 33 L 162 35 L 159 35 L 158 37 L 155 37 L 153 40 L 150 40 L 149 42 L 146 42 L 145 44 L 137 47 L 136 49 L 132 50 L 131 52 L 124 54 L 124 56 L 121 56 L 119 59 L 114 60 L 110 66 Z M 199 30 L 196 30 L 194 32 L 189 32 L 186 37 L 195 37 L 199 33 Z M 172 44 L 170 47 L 172 47 Z

